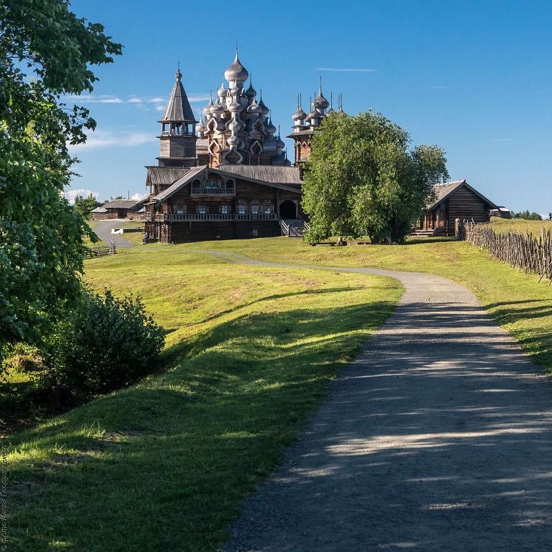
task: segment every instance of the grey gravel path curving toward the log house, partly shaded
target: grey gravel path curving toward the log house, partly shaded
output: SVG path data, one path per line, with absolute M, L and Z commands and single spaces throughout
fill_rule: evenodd
M 552 382 L 463 286 L 331 270 L 406 291 L 246 501 L 226 552 L 552 550 Z

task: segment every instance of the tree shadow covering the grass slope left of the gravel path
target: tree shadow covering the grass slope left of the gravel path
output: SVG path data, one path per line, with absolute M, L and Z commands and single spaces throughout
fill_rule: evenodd
M 328 380 L 393 306 L 238 317 L 188 344 L 197 354 L 168 373 L 14 435 L 12 549 L 172 552 L 223 542 Z

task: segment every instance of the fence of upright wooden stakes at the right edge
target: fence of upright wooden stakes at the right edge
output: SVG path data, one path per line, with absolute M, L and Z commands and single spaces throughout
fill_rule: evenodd
M 552 284 L 552 232 L 544 230 L 540 237 L 531 233 L 509 231 L 497 233 L 488 224 L 461 222 L 458 238 L 465 239 L 476 247 L 489 250 L 491 257 L 518 268 L 525 274 L 538 274 Z

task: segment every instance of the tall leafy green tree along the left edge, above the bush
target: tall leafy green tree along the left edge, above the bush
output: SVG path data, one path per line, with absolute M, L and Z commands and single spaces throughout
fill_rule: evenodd
M 68 1 L 0 5 L 0 345 L 39 342 L 79 296 L 91 230 L 62 194 L 75 161 L 68 144 L 95 121 L 62 97 L 91 92 L 90 66 L 120 53 Z

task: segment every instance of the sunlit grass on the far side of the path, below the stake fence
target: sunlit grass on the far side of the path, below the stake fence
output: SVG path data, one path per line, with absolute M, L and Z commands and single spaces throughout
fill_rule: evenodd
M 538 283 L 486 250 L 454 238 L 409 239 L 400 246 L 308 246 L 302 240 L 270 238 L 177 246 L 231 251 L 274 262 L 322 266 L 371 266 L 433 273 L 473 290 L 483 306 L 546 371 L 552 372 L 552 286 Z

